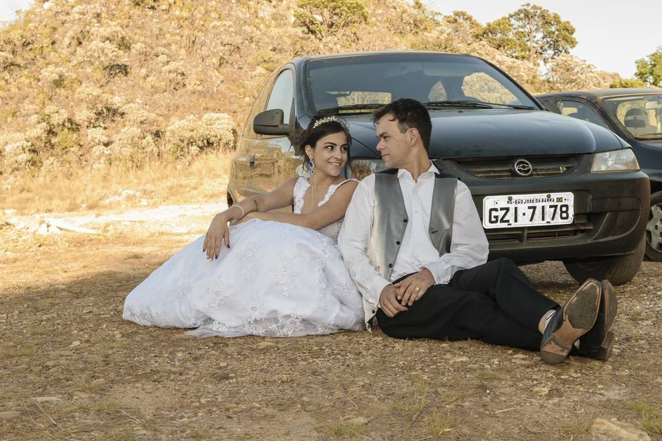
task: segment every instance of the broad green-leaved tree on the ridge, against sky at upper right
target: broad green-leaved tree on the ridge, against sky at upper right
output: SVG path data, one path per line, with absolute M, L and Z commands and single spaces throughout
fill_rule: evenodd
M 537 5 L 524 6 L 485 25 L 485 40 L 510 57 L 539 65 L 568 54 L 576 46 L 574 26 Z

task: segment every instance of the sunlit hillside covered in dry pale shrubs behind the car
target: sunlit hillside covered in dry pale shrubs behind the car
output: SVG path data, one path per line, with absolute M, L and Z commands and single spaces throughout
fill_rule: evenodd
M 563 48 L 543 77 L 508 45 L 519 31 L 490 25 L 404 0 L 37 0 L 0 29 L 1 184 L 231 150 L 263 81 L 302 54 L 468 52 L 532 91 L 618 80 Z

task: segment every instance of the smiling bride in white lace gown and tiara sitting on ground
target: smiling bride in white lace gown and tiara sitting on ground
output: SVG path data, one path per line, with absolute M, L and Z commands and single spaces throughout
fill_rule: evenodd
M 338 116 L 302 136 L 310 178 L 291 178 L 214 216 L 133 289 L 123 318 L 206 336 L 303 336 L 363 328 L 361 296 L 337 248 L 357 181 L 340 172 L 351 138 Z M 274 209 L 292 206 L 292 213 Z M 230 225 L 228 226 L 228 223 Z

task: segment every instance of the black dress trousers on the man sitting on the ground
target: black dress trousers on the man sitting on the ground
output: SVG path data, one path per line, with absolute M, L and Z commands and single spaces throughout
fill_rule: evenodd
M 512 260 L 499 258 L 457 271 L 448 285 L 432 285 L 408 311 L 393 318 L 378 309 L 377 320 L 382 331 L 394 338 L 475 338 L 539 350 L 540 318 L 558 307 Z

